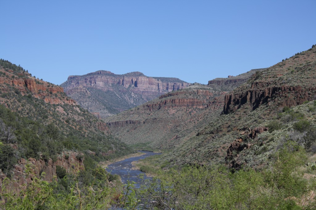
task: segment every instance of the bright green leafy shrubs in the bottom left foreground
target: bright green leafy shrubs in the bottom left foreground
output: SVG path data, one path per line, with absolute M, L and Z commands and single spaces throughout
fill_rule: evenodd
M 138 200 L 133 193 L 133 184 L 127 184 L 123 192 L 123 188 L 108 186 L 108 176 L 100 168 L 97 174 L 99 178 L 94 180 L 98 182 L 92 182 L 90 186 L 81 186 L 79 179 L 70 181 L 64 177 L 49 183 L 34 176 L 32 183 L 16 192 L 10 189 L 6 179 L 2 194 L 5 204 L 0 209 L 136 209 Z M 60 191 L 61 180 L 70 185 L 68 193 Z

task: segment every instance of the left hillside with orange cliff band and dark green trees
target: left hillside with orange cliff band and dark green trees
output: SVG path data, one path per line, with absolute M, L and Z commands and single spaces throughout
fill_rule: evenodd
M 62 87 L 2 59 L 0 103 L 0 191 L 5 177 L 14 186 L 26 184 L 28 164 L 37 177 L 45 172 L 47 181 L 56 176 L 56 167 L 82 171 L 88 184 L 97 162 L 132 152 Z

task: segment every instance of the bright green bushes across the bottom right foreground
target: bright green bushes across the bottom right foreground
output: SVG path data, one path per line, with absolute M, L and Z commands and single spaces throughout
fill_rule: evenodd
M 288 142 L 277 161 L 262 172 L 244 168 L 230 173 L 220 166 L 186 166 L 160 171 L 137 196 L 140 209 L 311 209 L 315 180 L 303 178 L 305 151 Z

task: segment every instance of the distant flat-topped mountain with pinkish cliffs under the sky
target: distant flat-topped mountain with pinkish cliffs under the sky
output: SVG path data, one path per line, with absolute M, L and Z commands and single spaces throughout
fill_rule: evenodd
M 60 86 L 84 108 L 106 118 L 189 85 L 178 78 L 147 77 L 141 72 L 117 75 L 96 71 L 69 76 Z

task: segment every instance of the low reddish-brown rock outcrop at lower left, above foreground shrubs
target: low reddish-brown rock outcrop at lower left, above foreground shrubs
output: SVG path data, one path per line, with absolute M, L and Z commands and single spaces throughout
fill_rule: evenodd
M 82 153 L 63 152 L 56 162 L 52 162 L 52 159 L 45 162 L 44 160 L 36 160 L 34 158 L 28 158 L 28 160 L 21 158 L 12 170 L 12 179 L 10 183 L 6 185 L 6 188 L 11 190 L 24 190 L 27 184 L 32 183 L 34 177 L 51 182 L 56 176 L 56 166 L 64 167 L 67 173 L 76 173 L 84 169 L 83 159 L 76 159 L 78 155 L 83 157 Z M 27 172 L 27 170 L 29 170 L 29 172 Z M 45 175 L 43 175 L 44 173 Z M 1 173 L 0 170 L 0 193 L 2 192 L 3 179 L 5 178 L 5 174 Z

